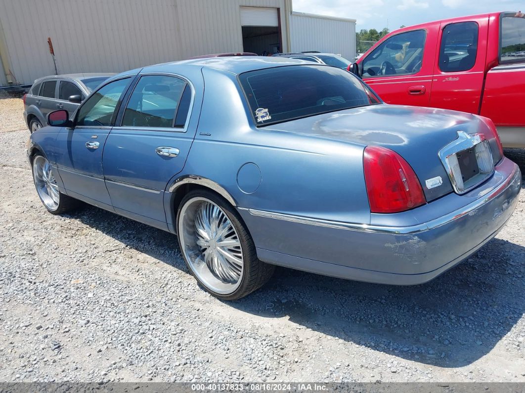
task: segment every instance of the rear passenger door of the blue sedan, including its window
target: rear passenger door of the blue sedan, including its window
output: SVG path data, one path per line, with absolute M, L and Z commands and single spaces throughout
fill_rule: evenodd
M 116 213 L 167 229 L 165 189 L 182 171 L 195 137 L 200 106 L 188 115 L 193 101 L 192 83 L 165 73 L 144 74 L 130 89 L 104 146 L 104 177 Z

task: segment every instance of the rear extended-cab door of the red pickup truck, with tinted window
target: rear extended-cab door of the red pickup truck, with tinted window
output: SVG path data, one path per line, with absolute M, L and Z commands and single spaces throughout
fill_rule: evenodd
M 478 113 L 485 76 L 488 17 L 442 23 L 430 107 Z

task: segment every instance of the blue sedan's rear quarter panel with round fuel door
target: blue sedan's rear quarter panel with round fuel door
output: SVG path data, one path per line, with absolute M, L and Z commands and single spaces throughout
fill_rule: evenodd
M 201 118 L 181 176 L 213 180 L 238 207 L 370 222 L 362 146 L 257 129 L 235 76 L 203 75 Z

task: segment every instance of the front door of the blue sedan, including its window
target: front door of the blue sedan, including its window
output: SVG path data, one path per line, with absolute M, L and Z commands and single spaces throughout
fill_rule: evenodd
M 75 128 L 61 129 L 56 141 L 58 173 L 67 194 L 109 210 L 102 152 L 131 79 L 112 81 L 90 95 L 77 111 Z

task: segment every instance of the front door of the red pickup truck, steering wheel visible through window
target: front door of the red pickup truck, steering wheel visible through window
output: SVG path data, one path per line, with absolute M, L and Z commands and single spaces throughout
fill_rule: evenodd
M 439 24 L 405 30 L 358 60 L 362 78 L 389 104 L 427 107 Z

